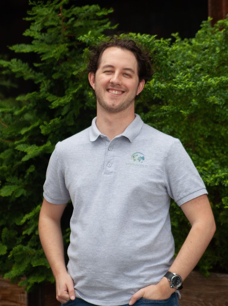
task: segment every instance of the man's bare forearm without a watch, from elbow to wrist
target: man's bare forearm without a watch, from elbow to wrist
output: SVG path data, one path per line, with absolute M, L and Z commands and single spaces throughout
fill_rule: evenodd
M 56 278 L 58 274 L 66 273 L 60 221 L 42 216 L 41 213 L 39 236 L 54 277 Z

